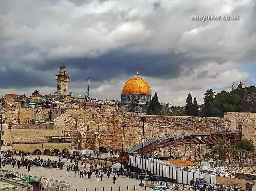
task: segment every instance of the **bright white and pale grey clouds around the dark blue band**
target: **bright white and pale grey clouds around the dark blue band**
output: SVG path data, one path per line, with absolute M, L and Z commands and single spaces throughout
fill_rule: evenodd
M 239 14 L 240 20 L 191 20 L 192 15 L 204 14 Z M 30 70 L 31 65 L 47 59 L 98 57 L 120 48 L 142 53 L 187 53 L 202 62 L 182 66 L 180 76 L 175 79 L 161 80 L 159 76 L 146 77 L 146 80 L 152 94 L 158 92 L 162 101 L 184 105 L 187 94 L 192 92 L 202 103 L 206 89 L 217 88 L 217 92 L 220 86 L 250 77 L 249 73 L 236 68 L 255 61 L 254 17 L 253 0 L 92 0 L 79 4 L 68 0 L 47 0 L 40 4 L 38 1 L 5 1 L 0 7 L 0 58 L 7 60 L 6 63 L 9 60 L 12 66 L 28 62 L 30 65 L 24 67 Z M 15 48 L 22 51 L 14 51 Z M 17 57 L 15 62 L 13 57 Z M 97 82 L 91 95 L 119 99 L 129 77 L 120 75 L 102 84 Z M 79 94 L 84 94 L 86 86 L 86 81 L 73 83 L 71 76 L 69 89 L 80 89 Z M 39 88 L 44 94 L 56 89 L 33 87 L 2 91 L 29 93 Z

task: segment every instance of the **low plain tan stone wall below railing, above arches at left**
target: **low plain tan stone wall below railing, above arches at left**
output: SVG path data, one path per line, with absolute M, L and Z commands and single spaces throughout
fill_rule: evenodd
M 10 130 L 10 129 L 9 129 Z M 61 129 L 11 129 L 10 143 L 12 142 L 45 142 L 49 136 L 64 136 Z

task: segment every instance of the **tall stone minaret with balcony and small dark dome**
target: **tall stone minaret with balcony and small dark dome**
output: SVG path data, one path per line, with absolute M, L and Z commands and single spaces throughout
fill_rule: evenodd
M 69 75 L 64 64 L 60 67 L 59 74 L 56 75 L 57 93 L 59 95 L 68 95 Z

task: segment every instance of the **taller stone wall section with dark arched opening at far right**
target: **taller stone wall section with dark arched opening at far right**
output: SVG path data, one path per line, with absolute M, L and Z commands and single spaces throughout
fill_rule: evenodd
M 232 131 L 242 130 L 242 140 L 249 140 L 256 146 L 256 113 L 224 112 L 224 118 L 231 121 Z

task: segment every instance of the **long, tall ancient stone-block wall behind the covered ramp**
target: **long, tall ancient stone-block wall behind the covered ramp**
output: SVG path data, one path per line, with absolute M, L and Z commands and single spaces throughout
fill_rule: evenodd
M 93 109 L 67 110 L 54 121 L 54 124 L 65 129 L 66 135 L 71 136 L 73 149 L 99 150 L 103 146 L 107 149 L 122 149 L 122 121 L 124 127 L 124 149 L 141 143 L 142 124 L 140 115 L 136 113 L 106 111 Z M 238 116 L 238 118 L 237 118 Z M 144 126 L 144 140 L 153 137 L 164 137 L 178 134 L 209 134 L 221 131 L 236 131 L 242 125 L 242 139 L 249 139 L 255 143 L 255 114 L 225 113 L 224 118 L 184 117 L 184 116 L 146 116 Z M 238 126 L 238 127 L 237 127 Z M 81 140 L 78 143 L 78 138 Z M 206 145 L 201 146 L 201 153 L 205 153 Z M 183 152 L 184 145 L 176 148 Z M 191 145 L 191 151 L 195 145 Z

